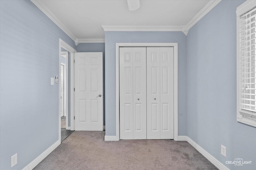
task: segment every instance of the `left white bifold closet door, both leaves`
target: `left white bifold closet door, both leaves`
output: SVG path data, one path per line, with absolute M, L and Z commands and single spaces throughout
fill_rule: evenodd
M 120 47 L 120 139 L 146 139 L 146 47 Z

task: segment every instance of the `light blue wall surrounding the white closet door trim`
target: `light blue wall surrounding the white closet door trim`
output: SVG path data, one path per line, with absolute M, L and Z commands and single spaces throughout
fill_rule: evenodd
M 178 43 L 178 134 L 186 135 L 186 36 L 182 32 L 106 32 L 106 135 L 116 135 L 116 43 Z

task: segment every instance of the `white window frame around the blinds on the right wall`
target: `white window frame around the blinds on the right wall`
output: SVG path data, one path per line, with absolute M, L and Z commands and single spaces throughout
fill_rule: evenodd
M 240 6 L 236 8 L 236 88 L 237 88 L 237 114 L 236 120 L 240 123 L 244 123 L 253 127 L 256 127 L 256 112 L 250 112 L 241 109 L 241 102 L 240 102 L 240 80 L 239 80 L 239 69 L 240 69 L 240 16 L 245 14 L 246 12 L 252 10 L 256 6 L 256 1 L 247 0 Z M 255 82 L 256 85 L 256 82 Z

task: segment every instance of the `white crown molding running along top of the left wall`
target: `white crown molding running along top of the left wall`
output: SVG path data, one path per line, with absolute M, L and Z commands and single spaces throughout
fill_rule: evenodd
M 52 11 L 40 0 L 30 0 L 37 8 L 39 8 L 50 20 L 52 20 L 64 33 L 66 33 L 73 41 L 76 36 L 52 13 Z

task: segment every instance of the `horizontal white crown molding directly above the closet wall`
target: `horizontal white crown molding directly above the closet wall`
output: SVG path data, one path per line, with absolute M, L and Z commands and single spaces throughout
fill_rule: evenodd
M 104 29 L 104 31 L 182 31 L 183 25 L 102 25 L 102 28 Z

